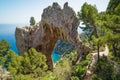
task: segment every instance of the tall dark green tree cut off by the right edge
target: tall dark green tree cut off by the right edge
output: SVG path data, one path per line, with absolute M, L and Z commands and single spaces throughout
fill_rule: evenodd
M 103 17 L 104 26 L 109 29 L 107 42 L 114 56 L 120 56 L 120 0 L 110 0 Z

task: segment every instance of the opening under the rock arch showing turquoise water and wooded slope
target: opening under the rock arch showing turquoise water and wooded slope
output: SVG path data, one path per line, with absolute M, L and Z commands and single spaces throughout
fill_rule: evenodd
M 74 45 L 64 40 L 58 40 L 51 55 L 53 63 L 58 62 L 65 54 L 69 54 L 73 50 L 75 50 Z

